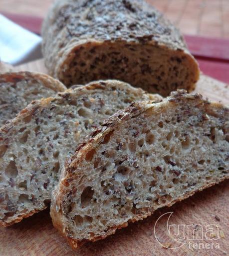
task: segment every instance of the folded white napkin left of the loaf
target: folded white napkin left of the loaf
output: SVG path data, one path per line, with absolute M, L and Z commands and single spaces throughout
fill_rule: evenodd
M 18 65 L 41 58 L 41 38 L 0 15 L 0 60 Z

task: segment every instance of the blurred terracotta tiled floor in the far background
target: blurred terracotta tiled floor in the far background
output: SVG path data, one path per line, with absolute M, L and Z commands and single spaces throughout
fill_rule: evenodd
M 52 2 L 53 0 L 0 0 L 0 13 L 17 15 L 17 19 L 21 19 L 21 15 L 42 19 Z M 229 0 L 147 2 L 163 12 L 184 34 L 229 38 Z

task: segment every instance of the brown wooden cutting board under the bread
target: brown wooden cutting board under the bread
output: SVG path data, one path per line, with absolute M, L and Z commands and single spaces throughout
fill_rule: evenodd
M 16 69 L 46 73 L 43 60 Z M 229 85 L 210 77 L 202 75 L 195 92 L 210 100 L 229 104 Z M 170 234 L 167 224 L 171 228 Z M 181 227 L 179 236 L 184 239 L 180 242 L 172 238 L 178 238 L 173 232 L 174 224 L 175 228 L 178 225 Z M 175 254 L 229 255 L 229 180 L 198 192 L 170 208 L 159 209 L 147 219 L 131 223 L 114 235 L 95 243 L 87 243 L 75 251 L 52 226 L 48 210 L 34 214 L 13 226 L 0 228 L 0 256 Z

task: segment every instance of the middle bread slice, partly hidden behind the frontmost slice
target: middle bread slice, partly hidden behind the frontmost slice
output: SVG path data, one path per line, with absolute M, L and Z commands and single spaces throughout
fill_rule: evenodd
M 31 102 L 0 129 L 0 225 L 46 208 L 78 142 L 133 100 L 160 100 L 119 81 L 100 81 Z

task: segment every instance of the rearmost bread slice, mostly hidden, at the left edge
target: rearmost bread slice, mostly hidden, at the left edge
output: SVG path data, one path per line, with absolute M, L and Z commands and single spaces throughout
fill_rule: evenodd
M 11 72 L 0 74 L 0 127 L 31 101 L 54 96 L 66 87 L 41 73 Z

